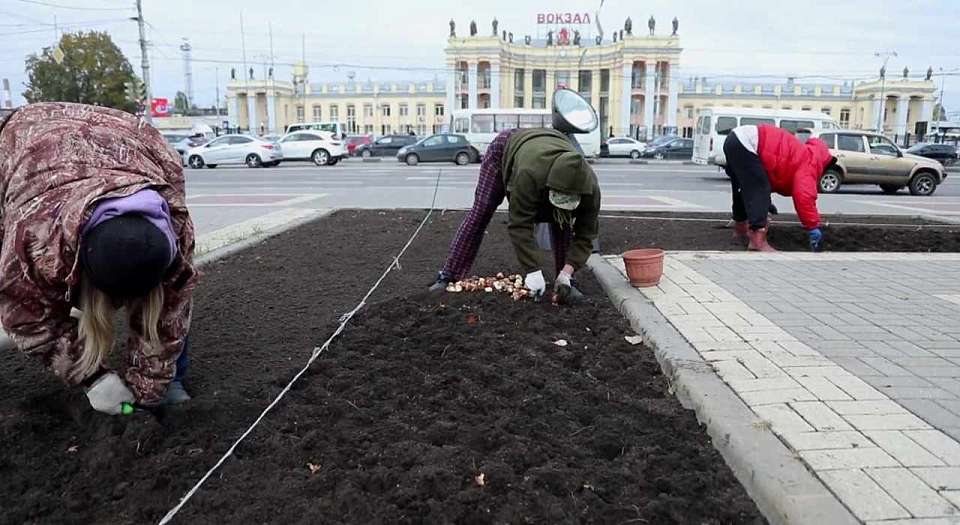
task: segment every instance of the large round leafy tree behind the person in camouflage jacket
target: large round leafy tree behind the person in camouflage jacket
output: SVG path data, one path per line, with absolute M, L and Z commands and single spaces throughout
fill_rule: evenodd
M 27 57 L 27 102 L 80 102 L 134 112 L 124 84 L 137 80 L 133 67 L 105 32 L 68 33 L 60 38 L 63 60 L 56 47 L 45 47 Z

